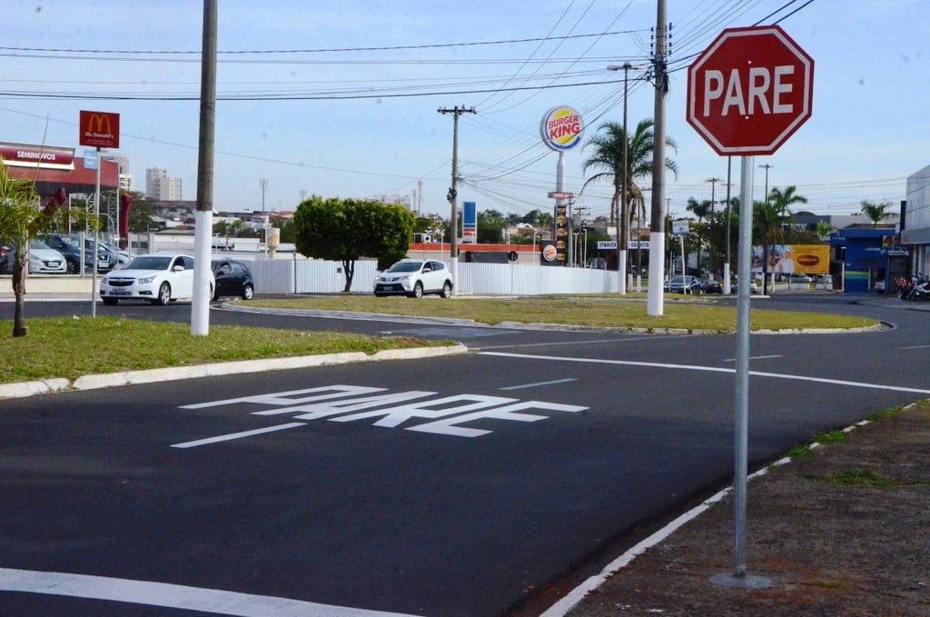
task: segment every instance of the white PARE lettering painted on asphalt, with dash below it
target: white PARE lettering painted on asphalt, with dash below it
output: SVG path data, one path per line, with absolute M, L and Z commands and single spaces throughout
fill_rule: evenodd
M 248 413 L 259 416 L 289 416 L 288 420 L 292 422 L 187 441 L 174 444 L 172 448 L 196 448 L 265 435 L 307 426 L 315 420 L 338 423 L 373 420 L 374 426 L 446 436 L 479 437 L 493 432 L 481 428 L 482 420 L 535 423 L 550 416 L 526 413 L 527 411 L 575 413 L 588 409 L 578 405 L 524 401 L 506 396 L 465 394 L 437 398 L 437 394 L 422 390 L 392 393 L 387 388 L 339 384 L 184 405 L 180 409 L 242 405 L 248 409 Z

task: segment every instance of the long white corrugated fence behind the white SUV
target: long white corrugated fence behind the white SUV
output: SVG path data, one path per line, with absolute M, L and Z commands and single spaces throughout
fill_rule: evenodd
M 353 293 L 371 293 L 374 261 L 355 262 Z M 249 262 L 258 293 L 338 293 L 345 288 L 339 262 L 255 260 Z M 616 293 L 618 274 L 611 270 L 560 268 L 522 263 L 458 263 L 458 293 L 537 296 L 550 293 Z

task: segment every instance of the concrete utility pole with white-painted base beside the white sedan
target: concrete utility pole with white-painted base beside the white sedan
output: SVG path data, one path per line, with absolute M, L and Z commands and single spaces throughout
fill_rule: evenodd
M 200 152 L 197 157 L 197 211 L 194 219 L 191 334 L 210 332 L 210 239 L 213 235 L 213 149 L 217 115 L 217 0 L 204 0 L 204 42 L 200 57 Z

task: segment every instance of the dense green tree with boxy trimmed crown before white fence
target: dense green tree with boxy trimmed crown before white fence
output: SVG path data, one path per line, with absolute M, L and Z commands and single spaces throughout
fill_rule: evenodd
M 360 258 L 376 258 L 383 270 L 406 256 L 414 221 L 403 206 L 313 195 L 294 213 L 295 246 L 308 257 L 342 262 L 348 293 Z

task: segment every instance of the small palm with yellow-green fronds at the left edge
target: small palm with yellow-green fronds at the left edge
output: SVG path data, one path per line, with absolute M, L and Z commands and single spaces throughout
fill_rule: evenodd
M 100 229 L 100 221 L 78 208 L 40 208 L 35 182 L 18 180 L 7 175 L 0 165 L 0 244 L 13 248 L 13 336 L 26 336 L 26 275 L 29 263 L 29 241 L 40 232 L 53 232 L 67 228 L 68 221 Z

